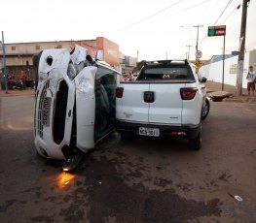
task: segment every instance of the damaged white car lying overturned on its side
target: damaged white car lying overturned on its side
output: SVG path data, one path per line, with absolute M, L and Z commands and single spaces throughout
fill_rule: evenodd
M 34 113 L 38 153 L 70 161 L 107 136 L 115 127 L 120 77 L 106 63 L 92 60 L 85 48 L 43 50 Z

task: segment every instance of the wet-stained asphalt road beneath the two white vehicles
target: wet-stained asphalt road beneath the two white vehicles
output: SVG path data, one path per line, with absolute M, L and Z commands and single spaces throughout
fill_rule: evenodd
M 0 109 L 0 222 L 256 222 L 256 104 L 211 103 L 200 151 L 113 133 L 72 174 L 37 156 L 32 94 Z

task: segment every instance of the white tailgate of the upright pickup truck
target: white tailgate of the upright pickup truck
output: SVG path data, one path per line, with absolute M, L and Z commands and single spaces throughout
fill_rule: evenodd
M 184 86 L 185 83 L 121 83 L 124 92 L 122 98 L 117 98 L 116 117 L 132 122 L 179 125 L 182 121 L 180 88 Z M 145 101 L 147 93 L 154 100 Z

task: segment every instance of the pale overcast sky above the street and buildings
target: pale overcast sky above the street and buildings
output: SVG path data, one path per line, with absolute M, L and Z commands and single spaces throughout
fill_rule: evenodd
M 2 0 L 5 43 L 91 40 L 105 37 L 138 60 L 202 59 L 222 54 L 224 38 L 208 26 L 226 25 L 226 53 L 238 50 L 241 0 Z M 247 8 L 246 50 L 256 48 L 256 0 Z

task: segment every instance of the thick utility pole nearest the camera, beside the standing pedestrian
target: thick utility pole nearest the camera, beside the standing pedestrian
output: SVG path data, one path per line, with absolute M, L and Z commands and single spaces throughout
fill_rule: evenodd
M 245 50 L 245 33 L 246 33 L 246 18 L 247 18 L 248 2 L 249 2 L 248 0 L 242 1 L 240 41 L 239 41 L 239 52 L 238 52 L 237 96 L 241 96 L 241 93 L 242 93 L 243 60 L 244 60 L 244 50 Z

